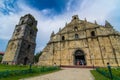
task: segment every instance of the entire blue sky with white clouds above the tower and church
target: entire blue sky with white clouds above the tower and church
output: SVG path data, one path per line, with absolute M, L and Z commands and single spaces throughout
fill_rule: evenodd
M 35 53 L 42 51 L 51 33 L 65 27 L 73 15 L 104 25 L 109 21 L 120 31 L 120 0 L 0 0 L 0 51 L 5 52 L 21 16 L 32 14 L 38 21 Z

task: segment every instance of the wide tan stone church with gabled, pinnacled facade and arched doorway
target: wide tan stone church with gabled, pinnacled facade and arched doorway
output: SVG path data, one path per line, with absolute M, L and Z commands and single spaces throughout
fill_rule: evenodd
M 80 20 L 72 16 L 50 41 L 39 57 L 39 65 L 58 66 L 120 66 L 120 33 L 105 21 L 105 25 Z

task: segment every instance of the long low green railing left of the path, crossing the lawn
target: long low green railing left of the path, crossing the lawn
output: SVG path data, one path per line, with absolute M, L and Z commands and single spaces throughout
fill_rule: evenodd
M 16 75 L 24 75 L 30 73 L 40 73 L 40 72 L 48 72 L 59 70 L 59 67 L 40 67 L 40 68 L 33 68 L 33 69 L 25 69 L 25 70 L 7 70 L 0 72 L 0 78 L 5 78 L 9 76 L 16 76 Z

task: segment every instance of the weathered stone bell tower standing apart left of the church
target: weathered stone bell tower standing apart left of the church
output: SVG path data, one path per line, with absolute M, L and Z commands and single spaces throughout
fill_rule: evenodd
M 20 18 L 12 38 L 9 40 L 2 63 L 29 64 L 33 62 L 37 21 L 31 14 Z

